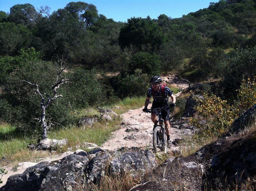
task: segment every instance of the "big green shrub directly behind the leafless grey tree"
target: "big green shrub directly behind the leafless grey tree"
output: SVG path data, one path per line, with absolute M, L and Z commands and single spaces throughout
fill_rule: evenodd
M 55 65 L 51 62 L 37 61 L 33 63 L 26 63 L 19 69 L 14 70 L 8 77 L 5 86 L 5 100 L 8 104 L 1 105 L 5 110 L 7 107 L 12 105 L 11 111 L 1 116 L 1 118 L 7 118 L 6 115 L 11 118 L 9 122 L 16 124 L 24 133 L 31 133 L 36 130 L 39 125 L 36 119 L 40 119 L 41 108 L 40 108 L 40 96 L 36 94 L 34 87 L 28 85 L 28 83 L 20 82 L 20 80 L 26 80 L 30 83 L 37 84 L 39 91 L 43 95 L 52 95 L 52 85 L 55 84 L 56 74 Z M 63 93 L 58 90 L 58 93 Z M 70 114 L 68 107 L 63 99 L 58 99 L 51 103 L 51 107 L 46 111 L 46 116 L 49 116 L 48 120 L 52 120 L 58 123 L 70 122 Z M 53 109 L 55 108 L 55 109 Z M 56 109 L 58 108 L 58 109 Z M 48 121 L 48 122 L 49 122 Z M 34 127 L 31 129 L 31 126 Z

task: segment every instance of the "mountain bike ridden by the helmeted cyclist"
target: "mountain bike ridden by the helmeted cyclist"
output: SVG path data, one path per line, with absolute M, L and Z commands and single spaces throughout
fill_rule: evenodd
M 161 108 L 155 108 L 155 109 L 147 109 L 146 112 L 152 113 L 156 112 L 157 114 L 157 120 L 155 125 L 153 126 L 153 149 L 154 153 L 157 152 L 157 148 L 160 148 L 161 151 L 164 151 L 164 153 L 167 152 L 167 134 L 165 131 L 164 126 L 164 119 L 162 118 L 162 112 L 163 109 L 169 109 L 168 107 L 161 107 Z

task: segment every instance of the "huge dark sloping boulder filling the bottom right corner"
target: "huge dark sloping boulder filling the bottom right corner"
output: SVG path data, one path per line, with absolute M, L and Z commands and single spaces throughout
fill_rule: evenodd
M 235 190 L 248 180 L 255 182 L 255 144 L 256 132 L 219 139 L 187 157 L 167 159 L 131 191 Z

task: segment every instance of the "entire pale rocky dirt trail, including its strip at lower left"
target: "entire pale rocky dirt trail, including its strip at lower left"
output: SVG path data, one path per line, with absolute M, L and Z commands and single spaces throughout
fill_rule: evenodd
M 167 75 L 162 77 L 162 80 L 164 83 L 171 84 L 174 87 L 179 88 L 180 90 L 184 88 L 188 88 L 188 82 L 185 80 L 181 80 L 178 77 L 174 75 Z M 180 91 L 181 92 L 181 91 Z M 175 94 L 175 96 L 179 96 L 180 92 L 178 94 Z M 150 107 L 150 104 L 148 108 Z M 141 108 L 129 110 L 122 114 L 123 122 L 121 124 L 121 128 L 115 132 L 112 133 L 111 138 L 106 141 L 104 144 L 102 144 L 101 148 L 105 150 L 117 150 L 122 147 L 137 147 L 140 149 L 153 149 L 153 143 L 152 143 L 152 132 L 153 132 L 153 123 L 150 119 L 150 113 L 142 112 L 142 109 L 144 106 L 141 106 Z M 169 147 L 169 151 L 172 150 L 179 150 L 179 145 L 176 144 L 177 140 L 181 139 L 183 136 L 190 136 L 193 134 L 193 130 L 189 128 L 177 128 L 177 126 L 172 126 L 171 123 L 171 136 L 170 139 L 172 141 L 172 146 Z M 4 168 L 6 171 L 8 171 L 8 174 L 5 174 L 2 177 L 3 183 L 0 184 L 0 187 L 2 187 L 9 176 L 14 174 L 20 174 L 24 172 L 28 167 L 33 166 L 39 162 L 43 161 L 55 161 L 60 160 L 63 157 L 66 157 L 74 152 L 66 152 L 59 156 L 52 156 L 52 157 L 46 157 L 42 158 L 38 161 L 33 162 L 23 162 L 19 163 L 19 166 L 17 168 L 13 168 L 12 166 L 4 166 L 1 168 Z

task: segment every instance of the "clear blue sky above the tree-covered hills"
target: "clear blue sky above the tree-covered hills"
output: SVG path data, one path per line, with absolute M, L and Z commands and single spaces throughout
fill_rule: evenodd
M 81 0 L 83 1 L 83 0 Z M 64 8 L 72 0 L 0 0 L 0 11 L 10 12 L 15 4 L 32 4 L 35 8 L 47 5 L 52 11 Z M 74 1 L 76 2 L 76 1 Z M 180 18 L 190 12 L 208 8 L 210 2 L 219 0 L 86 0 L 94 4 L 98 13 L 108 19 L 125 22 L 132 17 L 157 19 L 160 14 L 171 18 Z

